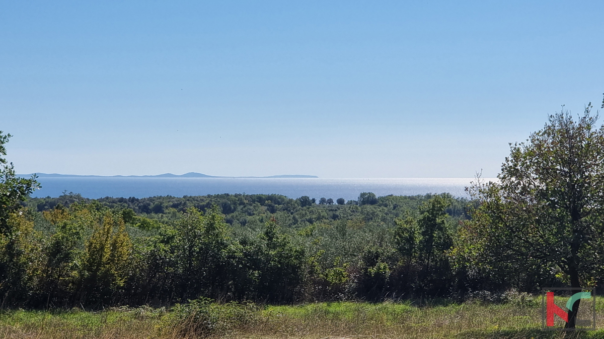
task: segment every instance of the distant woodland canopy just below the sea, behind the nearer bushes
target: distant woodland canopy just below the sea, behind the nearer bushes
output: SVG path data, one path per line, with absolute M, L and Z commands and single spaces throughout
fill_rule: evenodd
M 58 198 L 30 198 L 22 203 L 38 212 L 56 208 L 59 204 L 68 208 L 72 203 L 98 203 L 112 211 L 120 211 L 126 223 L 137 224 L 143 229 L 159 227 L 159 223 L 169 224 L 184 215 L 188 208 L 207 211 L 216 205 L 225 215 L 225 222 L 233 230 L 259 230 L 266 221 L 275 218 L 281 227 L 297 229 L 313 224 L 362 223 L 370 228 L 395 226 L 394 219 L 405 212 L 417 211 L 431 195 L 402 197 L 388 195 L 376 197 L 371 192 L 359 195 L 358 200 L 345 201 L 338 198 L 309 198 L 303 196 L 291 199 L 278 194 L 216 194 L 202 196 L 184 196 L 182 198 L 165 196 L 149 198 L 112 198 L 97 200 L 83 198 L 79 194 L 63 194 Z M 324 201 L 324 203 L 322 203 Z M 328 203 L 331 201 L 332 203 Z M 452 199 L 445 212 L 455 220 L 467 219 L 466 199 Z M 138 218 L 132 219 L 137 216 Z

